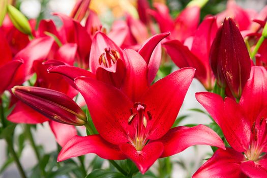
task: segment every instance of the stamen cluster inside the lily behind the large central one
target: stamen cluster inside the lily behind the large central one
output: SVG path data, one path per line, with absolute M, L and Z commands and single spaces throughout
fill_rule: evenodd
M 116 61 L 120 58 L 120 53 L 118 51 L 110 49 L 110 47 L 105 48 L 105 52 L 99 57 L 99 65 L 103 64 L 106 68 L 113 66 Z

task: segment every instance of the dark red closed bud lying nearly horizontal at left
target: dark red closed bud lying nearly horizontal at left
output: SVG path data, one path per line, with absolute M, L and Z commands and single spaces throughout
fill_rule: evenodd
M 85 113 L 67 95 L 42 87 L 14 86 L 12 93 L 22 102 L 58 123 L 82 126 Z

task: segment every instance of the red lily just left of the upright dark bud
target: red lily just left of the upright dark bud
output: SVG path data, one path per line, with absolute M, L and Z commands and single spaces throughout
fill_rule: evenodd
M 192 44 L 189 47 L 178 40 L 169 40 L 163 44 L 172 61 L 179 67 L 193 67 L 195 77 L 203 84 L 206 90 L 214 86 L 214 74 L 209 63 L 209 53 L 217 32 L 216 18 L 209 17 L 199 25 Z M 201 46 L 201 50 L 199 50 Z

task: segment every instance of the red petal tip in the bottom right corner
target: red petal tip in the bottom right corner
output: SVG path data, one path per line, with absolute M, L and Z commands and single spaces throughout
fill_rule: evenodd
M 267 169 L 254 161 L 246 161 L 241 164 L 241 170 L 249 177 L 267 177 Z

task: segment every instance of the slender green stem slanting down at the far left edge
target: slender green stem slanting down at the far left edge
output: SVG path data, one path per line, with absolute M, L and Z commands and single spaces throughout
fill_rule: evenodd
M 3 107 L 3 103 L 2 103 L 2 99 L 0 98 L 0 117 L 1 117 L 1 122 L 2 122 L 2 125 L 3 125 L 3 128 L 5 128 L 7 125 L 6 125 L 6 122 L 5 122 L 5 114 L 4 114 L 4 107 Z M 8 139 L 8 137 L 5 137 L 6 139 L 6 142 L 8 144 L 8 149 L 17 165 L 17 168 L 19 170 L 19 173 L 20 173 L 20 176 L 22 178 L 26 178 L 26 174 L 19 162 L 19 159 L 18 159 L 18 156 L 14 150 L 14 147 L 13 147 L 13 141 L 12 139 Z

